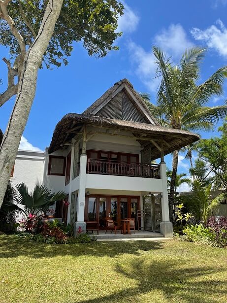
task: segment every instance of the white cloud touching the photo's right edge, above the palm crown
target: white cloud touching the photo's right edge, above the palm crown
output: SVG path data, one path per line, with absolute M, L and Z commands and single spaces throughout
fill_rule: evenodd
M 215 49 L 219 55 L 227 58 L 227 28 L 220 19 L 216 24 L 205 30 L 193 28 L 191 34 L 195 40 L 206 43 L 209 48 Z

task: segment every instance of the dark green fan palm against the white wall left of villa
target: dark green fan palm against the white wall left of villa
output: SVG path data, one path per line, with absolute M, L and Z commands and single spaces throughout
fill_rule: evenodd
M 29 193 L 28 187 L 24 183 L 16 184 L 18 194 L 14 196 L 14 202 L 8 201 L 4 204 L 4 210 L 11 213 L 23 213 L 26 217 L 37 214 L 38 212 L 48 211 L 48 208 L 55 201 L 63 200 L 67 197 L 64 192 L 52 194 L 44 185 L 36 185 L 34 190 Z M 22 207 L 21 207 L 22 206 Z

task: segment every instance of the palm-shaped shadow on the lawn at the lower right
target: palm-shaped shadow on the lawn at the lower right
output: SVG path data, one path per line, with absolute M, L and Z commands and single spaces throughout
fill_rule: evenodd
M 209 277 L 220 274 L 220 269 L 191 266 L 189 260 L 177 264 L 176 261 L 163 260 L 151 262 L 150 265 L 143 261 L 133 262 L 128 267 L 117 265 L 115 270 L 126 278 L 136 280 L 137 287 L 79 303 L 163 302 L 163 299 L 169 303 L 227 302 L 224 299 L 227 299 L 226 281 Z M 155 298 L 156 293 L 162 294 L 160 301 Z M 141 301 L 143 295 L 149 299 Z

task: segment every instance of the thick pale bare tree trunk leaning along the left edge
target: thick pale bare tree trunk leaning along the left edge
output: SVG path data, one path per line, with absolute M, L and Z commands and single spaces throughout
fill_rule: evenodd
M 63 0 L 48 1 L 39 33 L 25 56 L 16 101 L 0 145 L 0 206 L 32 107 L 36 90 L 37 71 L 53 34 L 62 4 Z

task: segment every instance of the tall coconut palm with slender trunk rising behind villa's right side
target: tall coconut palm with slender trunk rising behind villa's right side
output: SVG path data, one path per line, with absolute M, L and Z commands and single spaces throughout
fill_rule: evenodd
M 223 94 L 223 82 L 227 67 L 219 68 L 209 79 L 197 84 L 200 63 L 205 49 L 193 47 L 182 55 L 179 65 L 172 65 L 162 50 L 153 47 L 158 65 L 157 75 L 161 84 L 157 93 L 157 105 L 144 100 L 152 115 L 162 126 L 186 131 L 211 131 L 220 119 L 227 115 L 227 105 L 206 106 L 213 95 Z M 174 187 L 178 166 L 178 153 L 174 151 L 169 196 L 169 214 L 172 221 Z

